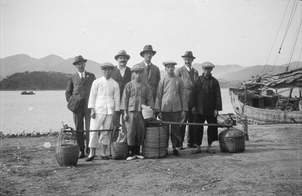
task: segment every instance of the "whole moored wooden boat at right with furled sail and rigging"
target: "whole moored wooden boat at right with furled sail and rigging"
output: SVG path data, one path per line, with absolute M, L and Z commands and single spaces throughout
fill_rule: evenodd
M 297 4 L 299 3 L 300 1 L 297 2 Z M 300 4 L 300 6 L 301 5 L 302 4 Z M 290 16 L 294 16 L 295 12 L 293 9 L 286 8 L 285 11 L 290 11 Z M 300 17 L 298 16 L 298 18 Z M 285 24 L 287 29 L 284 35 L 282 35 L 283 40 L 285 40 L 286 35 L 288 35 L 290 24 L 290 22 Z M 294 31 L 296 31 L 296 34 L 293 37 L 294 40 L 289 54 L 290 58 L 288 58 L 290 60 L 294 51 L 299 51 L 296 55 L 298 60 L 301 54 L 302 49 L 299 40 L 301 24 L 302 23 L 299 22 L 298 25 L 292 26 L 295 28 Z M 281 26 L 282 22 L 280 27 Z M 283 54 L 280 52 L 283 40 L 280 44 L 278 55 Z M 278 55 L 276 55 L 274 62 L 276 62 Z M 267 58 L 267 60 L 268 59 L 269 58 Z M 273 73 L 271 71 L 261 76 L 257 75 L 248 81 L 243 81 L 241 87 L 229 89 L 232 106 L 238 118 L 246 118 L 248 123 L 251 124 L 302 123 L 302 67 L 300 62 L 297 61 L 296 67 L 289 70 L 290 64 L 293 63 L 287 63 L 285 71 L 283 72 Z M 294 88 L 298 88 L 298 97 L 292 97 L 292 90 Z M 281 92 L 284 89 L 289 90 L 288 96 L 282 96 L 279 89 Z M 277 93 L 278 91 L 279 93 Z

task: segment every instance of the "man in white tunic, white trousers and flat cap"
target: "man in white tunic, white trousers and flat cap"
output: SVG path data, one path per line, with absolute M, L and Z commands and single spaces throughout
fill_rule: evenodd
M 116 120 L 117 112 L 120 108 L 119 85 L 111 78 L 113 64 L 105 62 L 101 66 L 104 77 L 95 80 L 92 84 L 88 108 L 91 109 L 91 130 L 99 130 L 101 127 L 112 129 L 113 120 Z M 101 132 L 99 143 L 102 144 L 101 158 L 108 160 L 106 156 L 107 146 L 110 144 L 112 132 Z M 98 132 L 90 132 L 90 154 L 85 161 L 92 161 L 95 157 Z

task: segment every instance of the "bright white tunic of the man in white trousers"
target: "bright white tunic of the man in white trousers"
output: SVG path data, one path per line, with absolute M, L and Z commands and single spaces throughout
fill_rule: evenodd
M 99 78 L 92 83 L 88 108 L 94 108 L 97 114 L 114 114 L 120 108 L 118 83 L 112 78 Z

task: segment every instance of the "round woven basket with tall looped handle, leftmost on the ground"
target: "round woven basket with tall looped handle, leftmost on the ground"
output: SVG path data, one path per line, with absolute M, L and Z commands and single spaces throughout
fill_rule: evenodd
M 65 129 L 70 128 L 70 132 L 73 132 L 73 142 L 74 144 L 62 144 L 63 132 Z M 61 128 L 59 132 L 59 137 L 56 145 L 56 160 L 61 166 L 71 166 L 77 165 L 79 160 L 79 146 L 75 143 L 74 140 L 74 129 L 71 127 L 65 126 Z

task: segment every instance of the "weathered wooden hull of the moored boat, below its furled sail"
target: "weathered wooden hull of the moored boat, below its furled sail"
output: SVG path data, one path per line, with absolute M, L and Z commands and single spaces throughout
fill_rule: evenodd
M 247 93 L 245 89 L 229 89 L 233 109 L 239 119 L 249 124 L 302 123 L 302 98 Z M 286 105 L 287 104 L 287 105 Z

